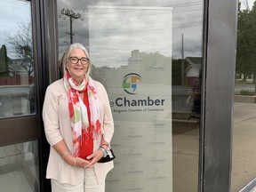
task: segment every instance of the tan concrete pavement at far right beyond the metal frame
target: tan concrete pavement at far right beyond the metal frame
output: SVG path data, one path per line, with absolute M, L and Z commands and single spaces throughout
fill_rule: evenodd
M 256 178 L 256 103 L 234 103 L 231 192 Z M 245 192 L 246 190 L 243 190 Z M 247 190 L 254 191 L 256 189 Z

